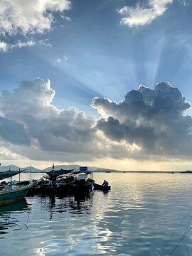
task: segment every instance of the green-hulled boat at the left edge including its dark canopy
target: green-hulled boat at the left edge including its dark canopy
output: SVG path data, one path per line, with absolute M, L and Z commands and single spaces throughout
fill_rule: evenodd
M 25 171 L 25 170 L 22 170 Z M 19 171 L 4 171 L 0 173 L 0 179 L 11 178 L 16 174 L 20 174 L 22 172 Z M 0 186 L 0 205 L 4 205 L 6 203 L 12 203 L 14 201 L 21 200 L 28 190 L 33 186 L 31 181 L 11 181 L 9 183 L 3 182 Z

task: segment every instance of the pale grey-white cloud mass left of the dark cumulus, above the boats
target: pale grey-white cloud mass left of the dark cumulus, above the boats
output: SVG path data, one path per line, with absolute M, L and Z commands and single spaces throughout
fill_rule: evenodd
M 74 161 L 82 159 L 82 155 L 84 159 L 102 155 L 95 117 L 86 116 L 75 107 L 59 110 L 51 104 L 54 95 L 50 80 L 40 78 L 21 82 L 13 92 L 3 90 L 0 97 L 0 114 L 4 120 L 1 141 L 10 142 L 9 150 L 16 149 L 18 154 L 29 158 L 46 158 L 51 154 L 61 160 L 65 154 L 70 154 L 69 159 Z M 15 128 L 18 137 L 22 132 L 26 134 L 23 141 L 18 138 L 23 147 L 16 147 L 18 143 L 11 137 L 13 131 L 6 129 L 6 125 Z

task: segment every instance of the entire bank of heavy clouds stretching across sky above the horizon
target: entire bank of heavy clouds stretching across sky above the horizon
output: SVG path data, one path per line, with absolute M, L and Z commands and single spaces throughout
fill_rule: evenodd
M 75 107 L 53 105 L 50 80 L 23 81 L 0 94 L 0 153 L 16 152 L 33 160 L 189 159 L 191 105 L 169 82 L 154 89 L 143 85 L 117 103 L 94 98 L 100 119 Z

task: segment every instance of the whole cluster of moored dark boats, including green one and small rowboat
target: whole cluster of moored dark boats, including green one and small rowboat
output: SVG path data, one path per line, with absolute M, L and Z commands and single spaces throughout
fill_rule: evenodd
M 25 171 L 25 170 L 22 170 Z M 0 205 L 18 201 L 26 194 L 72 195 L 88 193 L 92 188 L 102 191 L 110 190 L 110 186 L 96 184 L 92 172 L 87 167 L 80 167 L 79 171 L 54 170 L 46 172 L 46 176 L 32 181 L 13 181 L 12 176 L 20 174 L 19 171 L 5 171 L 0 173 L 0 180 L 11 178 L 11 181 L 0 183 Z

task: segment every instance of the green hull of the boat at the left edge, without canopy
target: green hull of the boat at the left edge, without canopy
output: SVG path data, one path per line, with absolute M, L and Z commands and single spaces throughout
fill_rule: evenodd
M 32 186 L 31 181 L 11 181 L 1 186 L 0 205 L 21 200 Z

